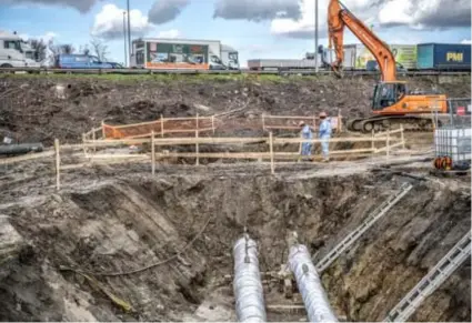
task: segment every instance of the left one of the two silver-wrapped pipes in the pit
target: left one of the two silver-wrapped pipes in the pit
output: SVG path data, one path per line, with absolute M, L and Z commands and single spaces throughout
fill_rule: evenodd
M 265 304 L 257 243 L 244 234 L 234 243 L 235 312 L 239 322 L 265 322 Z

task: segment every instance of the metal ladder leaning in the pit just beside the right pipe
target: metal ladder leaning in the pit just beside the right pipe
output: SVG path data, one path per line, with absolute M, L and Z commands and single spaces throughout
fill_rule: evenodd
M 354 231 L 348 234 L 333 250 L 330 251 L 320 262 L 317 263 L 315 269 L 318 273 L 327 270 L 348 248 L 350 248 L 358 239 L 371 228 L 376 220 L 382 218 L 393 205 L 395 205 L 413 186 L 409 183 L 403 183 L 400 190 L 392 196 L 383 202 L 379 208 L 373 210 L 368 218 Z

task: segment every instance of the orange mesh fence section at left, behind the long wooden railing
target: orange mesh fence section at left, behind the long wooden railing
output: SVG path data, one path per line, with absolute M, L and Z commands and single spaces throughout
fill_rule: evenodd
M 137 139 L 149 138 L 154 132 L 155 135 L 163 138 L 165 134 L 192 134 L 200 132 L 212 132 L 217 130 L 217 120 L 211 117 L 185 117 L 185 118 L 164 118 L 161 115 L 159 120 L 111 125 L 103 121 L 100 128 L 82 134 L 82 141 L 98 139 Z

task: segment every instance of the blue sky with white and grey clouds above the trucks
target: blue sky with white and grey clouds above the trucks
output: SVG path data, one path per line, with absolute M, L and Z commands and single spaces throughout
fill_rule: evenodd
M 125 0 L 0 0 L 0 30 L 76 48 L 107 41 L 123 62 Z M 327 44 L 329 0 L 319 0 Z M 389 43 L 470 42 L 471 0 L 343 0 Z M 302 58 L 314 48 L 314 0 L 130 0 L 132 37 L 221 40 L 248 59 Z M 356 43 L 347 32 L 345 43 Z

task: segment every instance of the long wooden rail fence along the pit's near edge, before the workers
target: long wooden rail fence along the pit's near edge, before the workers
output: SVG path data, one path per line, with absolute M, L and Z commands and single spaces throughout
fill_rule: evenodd
M 97 132 L 101 129 L 92 129 L 89 133 L 83 135 L 83 142 L 79 144 L 63 144 L 61 145 L 59 140 L 54 140 L 54 149 L 49 150 L 42 153 L 28 154 L 23 157 L 9 158 L 0 160 L 0 164 L 16 163 L 32 159 L 41 159 L 48 157 L 54 157 L 56 163 L 56 186 L 60 189 L 60 173 L 61 170 L 72 170 L 78 168 L 83 168 L 91 165 L 92 163 L 121 163 L 121 162 L 151 162 L 151 173 L 155 173 L 155 163 L 157 160 L 163 160 L 169 158 L 188 158 L 195 159 L 195 164 L 200 163 L 200 159 L 242 159 L 242 160 L 268 160 L 270 161 L 271 173 L 275 173 L 275 164 L 279 160 L 299 160 L 299 152 L 282 152 L 277 151 L 275 148 L 287 144 L 301 144 L 303 142 L 310 142 L 312 144 L 325 142 L 324 140 L 313 139 L 307 140 L 302 138 L 274 138 L 272 132 L 269 132 L 268 137 L 260 138 L 199 138 L 198 132 L 194 138 L 160 138 L 157 137 L 154 132 L 151 132 L 151 138 L 131 138 L 131 139 L 118 139 L 118 140 L 107 140 L 107 139 L 87 139 L 88 137 L 98 137 Z M 347 157 L 369 157 L 379 153 L 385 153 L 389 157 L 394 148 L 405 145 L 403 129 L 386 131 L 382 133 L 372 133 L 370 137 L 353 137 L 353 138 L 333 138 L 328 140 L 330 143 L 356 143 L 356 142 L 366 142 L 371 143 L 370 148 L 362 149 L 350 149 L 350 150 L 334 150 L 330 151 L 330 158 L 347 158 Z M 133 154 L 133 153 L 98 153 L 99 150 L 103 148 L 113 148 L 122 145 L 134 145 L 134 144 L 150 144 L 151 152 L 143 154 Z M 262 152 L 200 152 L 200 144 L 267 144 L 268 150 Z M 381 147 L 379 147 L 381 144 Z M 162 147 L 178 147 L 178 145 L 194 145 L 194 152 L 170 152 L 170 151 L 160 151 L 157 152 L 155 148 Z M 70 150 L 80 150 L 83 151 L 83 158 L 86 162 L 79 164 L 66 164 L 61 162 L 61 153 Z M 313 160 L 321 159 L 320 155 L 311 157 Z

